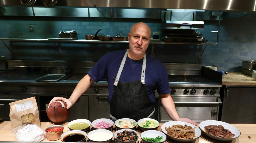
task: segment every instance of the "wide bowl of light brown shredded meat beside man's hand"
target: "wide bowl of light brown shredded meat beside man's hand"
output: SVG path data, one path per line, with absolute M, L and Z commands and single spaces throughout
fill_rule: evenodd
M 168 138 L 180 142 L 190 142 L 201 135 L 197 126 L 181 121 L 165 122 L 161 126 L 161 130 Z

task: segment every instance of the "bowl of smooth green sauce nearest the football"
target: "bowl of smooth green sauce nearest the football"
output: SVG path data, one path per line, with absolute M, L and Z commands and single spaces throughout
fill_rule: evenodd
M 72 130 L 81 130 L 87 132 L 90 130 L 91 121 L 87 119 L 76 119 L 68 123 L 68 128 Z

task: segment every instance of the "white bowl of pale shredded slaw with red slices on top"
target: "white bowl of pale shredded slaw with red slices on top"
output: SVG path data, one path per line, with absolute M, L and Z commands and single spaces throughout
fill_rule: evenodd
M 132 129 L 136 130 L 137 122 L 130 118 L 122 118 L 115 121 L 117 130 Z

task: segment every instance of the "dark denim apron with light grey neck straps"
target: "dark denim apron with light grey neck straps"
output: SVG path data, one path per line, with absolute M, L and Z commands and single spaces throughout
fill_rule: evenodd
M 113 88 L 113 95 L 110 102 L 110 118 L 117 120 L 121 118 L 131 118 L 138 121 L 142 118 L 155 117 L 155 103 L 148 96 L 145 85 L 145 69 L 146 69 L 146 54 L 143 58 L 141 80 L 131 82 L 119 82 L 128 50 L 126 51 L 122 63 L 119 67 Z

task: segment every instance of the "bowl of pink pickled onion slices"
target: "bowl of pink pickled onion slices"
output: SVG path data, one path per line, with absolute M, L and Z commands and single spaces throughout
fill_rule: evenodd
M 101 119 L 96 119 L 92 121 L 91 125 L 93 130 L 96 130 L 96 129 L 111 130 L 114 125 L 114 121 L 106 118 L 101 118 Z

